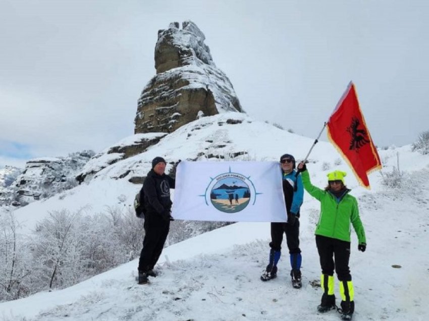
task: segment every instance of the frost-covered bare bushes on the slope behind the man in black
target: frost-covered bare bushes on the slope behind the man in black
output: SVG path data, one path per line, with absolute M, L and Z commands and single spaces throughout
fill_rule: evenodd
M 12 215 L 0 215 L 0 301 L 65 288 L 139 256 L 144 220 L 135 216 L 134 208 L 87 210 L 49 212 L 26 239 L 16 233 Z M 174 221 L 168 244 L 228 224 Z

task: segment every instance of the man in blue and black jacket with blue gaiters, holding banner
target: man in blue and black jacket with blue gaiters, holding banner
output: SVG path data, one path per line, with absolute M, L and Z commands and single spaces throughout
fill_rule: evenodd
M 271 223 L 270 259 L 265 272 L 261 275 L 262 281 L 269 281 L 277 277 L 277 262 L 280 259 L 283 233 L 286 234 L 286 244 L 289 248 L 292 286 L 301 288 L 301 249 L 299 248 L 299 209 L 301 207 L 304 188 L 301 175 L 297 176 L 295 158 L 291 154 L 280 157 L 283 178 L 283 194 L 288 215 L 287 223 Z

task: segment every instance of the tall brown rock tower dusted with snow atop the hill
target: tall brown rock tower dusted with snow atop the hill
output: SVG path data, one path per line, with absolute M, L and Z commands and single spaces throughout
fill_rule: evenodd
M 135 133 L 171 133 L 197 117 L 244 112 L 228 77 L 216 67 L 205 36 L 191 21 L 158 31 L 154 76 L 138 100 Z

